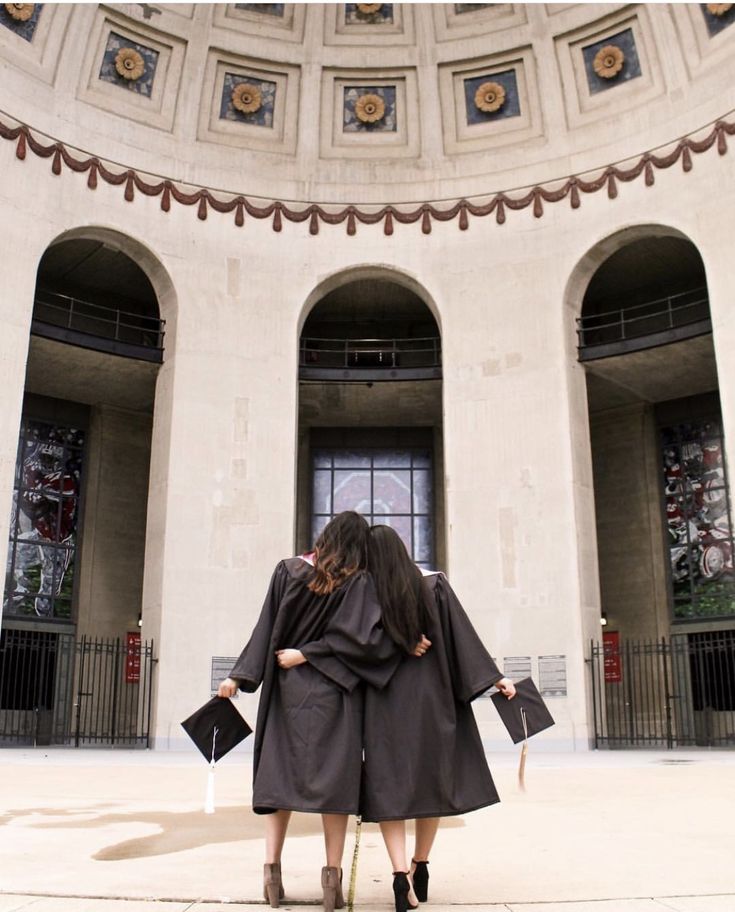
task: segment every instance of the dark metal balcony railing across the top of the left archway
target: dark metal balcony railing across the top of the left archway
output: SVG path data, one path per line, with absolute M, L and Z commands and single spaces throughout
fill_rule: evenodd
M 31 331 L 47 339 L 142 361 L 163 361 L 166 321 L 37 290 Z

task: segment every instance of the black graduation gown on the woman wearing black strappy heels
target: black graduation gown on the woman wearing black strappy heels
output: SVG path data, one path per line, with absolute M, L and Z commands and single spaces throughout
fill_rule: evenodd
M 366 688 L 363 820 L 447 817 L 500 800 L 470 703 L 503 675 L 446 577 L 426 582 L 431 649 L 404 655 L 383 690 Z

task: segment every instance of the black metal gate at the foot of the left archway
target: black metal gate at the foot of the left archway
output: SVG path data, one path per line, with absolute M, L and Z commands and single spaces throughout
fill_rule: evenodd
M 0 744 L 150 744 L 153 641 L 0 634 Z

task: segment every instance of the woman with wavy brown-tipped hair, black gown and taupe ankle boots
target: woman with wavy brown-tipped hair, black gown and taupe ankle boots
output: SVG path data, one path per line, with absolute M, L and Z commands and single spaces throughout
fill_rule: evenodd
M 268 815 L 264 896 L 273 907 L 284 895 L 281 851 L 292 811 L 322 814 L 324 906 L 344 905 L 342 854 L 347 815 L 358 811 L 362 760 L 358 684 L 369 681 L 377 692 L 400 661 L 365 573 L 367 534 L 359 514 L 341 513 L 313 556 L 278 564 L 250 641 L 219 688 L 231 697 L 262 684 L 253 810 Z

